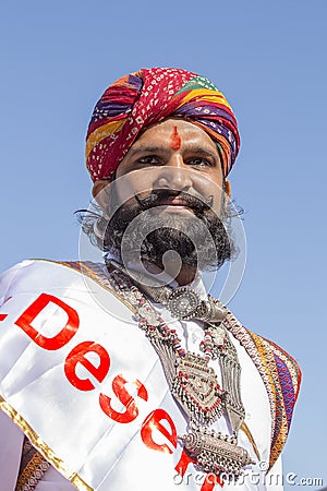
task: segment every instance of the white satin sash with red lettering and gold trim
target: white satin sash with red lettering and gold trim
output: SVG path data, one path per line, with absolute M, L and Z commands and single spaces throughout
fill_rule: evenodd
M 46 261 L 10 270 L 1 295 L 0 407 L 77 489 L 220 489 L 181 460 L 185 419 L 118 297 Z

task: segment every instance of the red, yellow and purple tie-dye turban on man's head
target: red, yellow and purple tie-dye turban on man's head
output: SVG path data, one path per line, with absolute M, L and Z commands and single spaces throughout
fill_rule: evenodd
M 227 176 L 240 136 L 223 94 L 196 73 L 152 68 L 119 79 L 98 100 L 86 136 L 86 166 L 93 181 L 109 179 L 140 133 L 170 117 L 186 119 L 211 136 Z

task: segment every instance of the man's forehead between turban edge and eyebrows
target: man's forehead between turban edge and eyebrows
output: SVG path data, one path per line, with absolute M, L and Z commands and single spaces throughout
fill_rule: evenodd
M 174 118 L 166 119 L 165 121 L 145 130 L 130 149 L 148 144 L 170 146 L 171 137 L 175 134 L 175 130 L 181 137 L 182 147 L 196 145 L 197 147 L 203 147 L 204 149 L 215 149 L 218 153 L 215 142 L 204 130 L 190 121 Z

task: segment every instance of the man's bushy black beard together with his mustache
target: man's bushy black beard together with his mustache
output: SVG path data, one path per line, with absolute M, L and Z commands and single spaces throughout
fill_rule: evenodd
M 177 195 L 193 214 L 156 213 L 156 207 L 162 206 L 165 200 Z M 106 252 L 129 264 L 141 260 L 145 265 L 155 264 L 161 270 L 165 268 L 162 256 L 171 250 L 179 254 L 182 267 L 201 271 L 216 271 L 225 261 L 231 260 L 235 249 L 223 221 L 210 208 L 211 196 L 203 201 L 182 191 L 164 189 L 143 199 L 135 197 L 133 204 L 121 205 L 111 217 L 104 233 Z M 137 225 L 130 227 L 136 217 Z M 223 218 L 228 221 L 227 216 Z

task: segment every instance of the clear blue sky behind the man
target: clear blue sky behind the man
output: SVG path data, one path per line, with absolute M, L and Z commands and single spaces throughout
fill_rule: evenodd
M 207 75 L 242 134 L 231 183 L 249 253 L 230 307 L 299 360 L 284 472 L 324 486 L 326 14 L 325 0 L 29 0 L 5 2 L 0 17 L 0 270 L 77 258 L 73 212 L 90 199 L 85 131 L 109 83 L 149 65 Z

